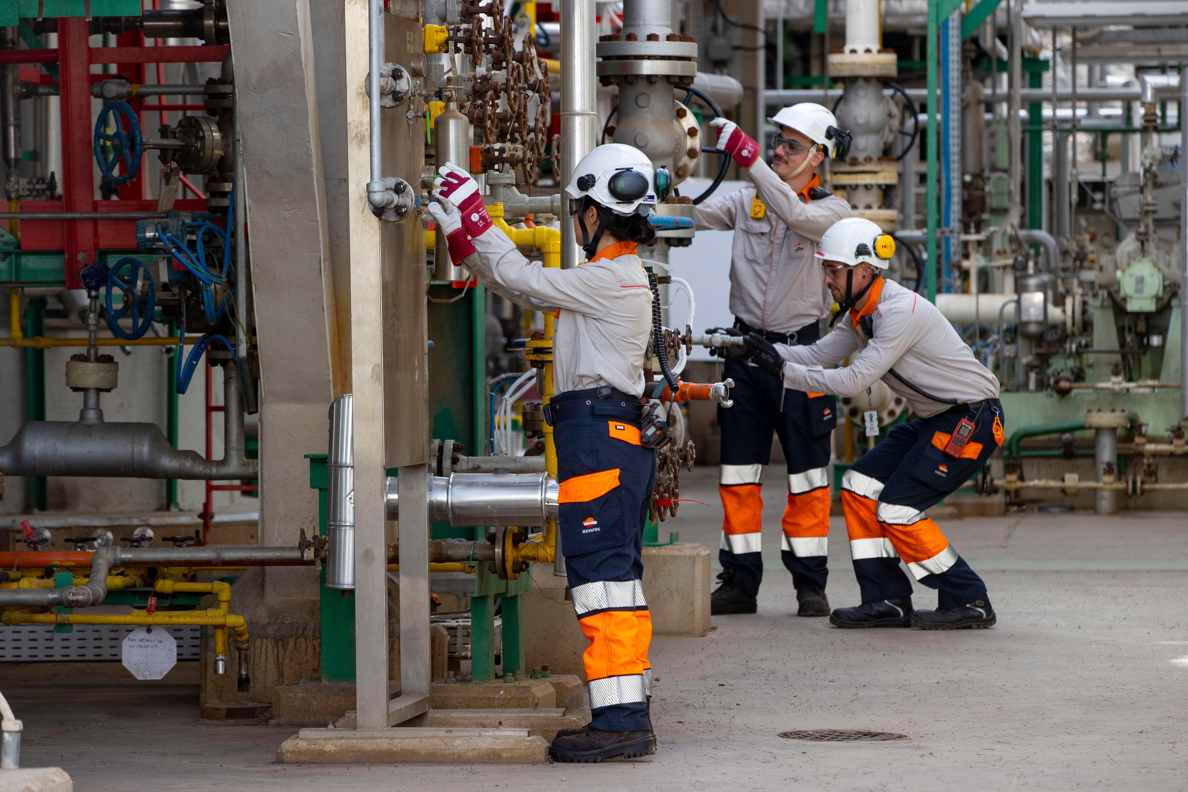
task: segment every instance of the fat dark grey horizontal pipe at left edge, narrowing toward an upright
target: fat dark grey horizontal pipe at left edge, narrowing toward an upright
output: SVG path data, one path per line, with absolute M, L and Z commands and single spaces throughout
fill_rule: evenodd
M 244 411 L 239 372 L 223 366 L 223 458 L 206 460 L 170 445 L 157 424 L 31 420 L 5 446 L 0 470 L 11 476 L 103 476 L 187 481 L 258 479 L 255 460 L 244 457 Z

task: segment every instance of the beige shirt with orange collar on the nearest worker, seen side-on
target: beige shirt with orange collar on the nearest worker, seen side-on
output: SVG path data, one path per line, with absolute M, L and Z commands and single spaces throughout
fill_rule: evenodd
M 573 270 L 529 261 L 498 227 L 474 237 L 463 265 L 487 289 L 554 323 L 557 393 L 609 385 L 644 392 L 644 354 L 652 329 L 652 292 L 634 242 L 617 242 Z

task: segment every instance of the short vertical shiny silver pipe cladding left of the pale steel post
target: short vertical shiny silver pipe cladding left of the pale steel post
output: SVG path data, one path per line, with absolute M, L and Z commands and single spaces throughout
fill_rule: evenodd
M 330 405 L 329 477 L 326 499 L 326 534 L 329 562 L 326 588 L 355 588 L 355 455 L 354 403 L 340 395 Z

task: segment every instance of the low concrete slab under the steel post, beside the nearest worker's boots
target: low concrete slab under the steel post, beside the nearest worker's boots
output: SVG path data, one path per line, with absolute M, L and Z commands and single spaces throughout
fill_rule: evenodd
M 527 729 L 302 729 L 277 749 L 298 765 L 544 765 L 549 743 Z

